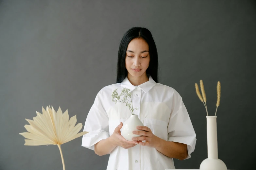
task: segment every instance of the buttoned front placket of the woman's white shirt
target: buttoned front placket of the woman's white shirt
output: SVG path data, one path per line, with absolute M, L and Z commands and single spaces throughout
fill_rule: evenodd
M 136 86 L 132 93 L 132 104 L 133 104 L 133 114 L 138 115 L 138 118 L 140 119 L 140 106 L 141 106 L 141 89 Z M 139 170 L 140 169 L 140 145 L 136 145 L 132 147 L 132 152 L 130 155 L 130 164 L 132 165 L 133 170 Z M 130 169 L 130 168 L 129 168 Z

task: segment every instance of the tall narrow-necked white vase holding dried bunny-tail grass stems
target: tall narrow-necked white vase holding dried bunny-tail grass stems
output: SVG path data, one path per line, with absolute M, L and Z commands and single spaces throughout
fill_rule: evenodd
M 227 170 L 223 161 L 218 159 L 217 116 L 206 116 L 208 158 L 200 164 L 200 170 Z

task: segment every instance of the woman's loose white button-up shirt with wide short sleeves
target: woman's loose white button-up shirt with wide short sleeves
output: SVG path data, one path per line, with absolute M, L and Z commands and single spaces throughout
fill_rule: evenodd
M 135 115 L 152 133 L 166 141 L 187 144 L 188 158 L 195 149 L 196 134 L 187 109 L 179 93 L 173 88 L 149 80 L 134 86 L 126 77 L 121 83 L 101 89 L 85 121 L 82 146 L 93 149 L 94 144 L 113 134 L 114 129 L 125 122 L 131 112 L 124 103 L 112 102 L 112 92 L 123 88 L 131 91 Z M 122 98 L 122 96 L 121 96 Z M 175 169 L 173 158 L 163 155 L 155 148 L 136 145 L 129 149 L 117 146 L 109 157 L 107 170 L 164 170 Z

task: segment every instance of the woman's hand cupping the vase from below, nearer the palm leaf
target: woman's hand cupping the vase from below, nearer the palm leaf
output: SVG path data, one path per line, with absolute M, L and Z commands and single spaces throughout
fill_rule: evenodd
M 137 141 L 128 141 L 122 135 L 120 129 L 122 128 L 123 123 L 121 122 L 114 130 L 113 134 L 110 136 L 114 146 L 120 146 L 124 149 L 134 147 L 138 144 Z

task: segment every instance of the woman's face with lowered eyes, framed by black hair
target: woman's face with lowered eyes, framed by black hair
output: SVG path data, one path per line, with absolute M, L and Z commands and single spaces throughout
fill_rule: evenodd
M 125 67 L 128 74 L 140 77 L 145 74 L 149 66 L 149 47 L 142 38 L 134 38 L 128 44 L 125 57 Z

